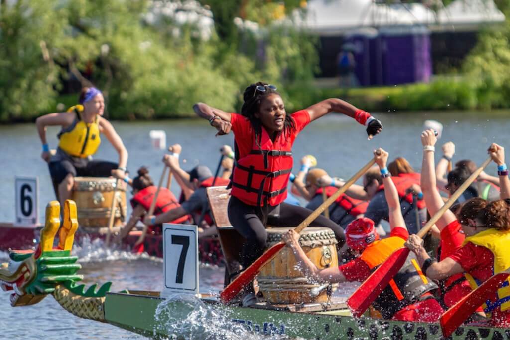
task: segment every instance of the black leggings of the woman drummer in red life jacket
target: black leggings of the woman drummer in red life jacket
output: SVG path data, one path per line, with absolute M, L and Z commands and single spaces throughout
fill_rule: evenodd
M 273 216 L 270 214 L 274 213 L 276 206 L 258 208 L 231 196 L 230 202 L 228 202 L 228 219 L 234 229 L 246 239 L 241 253 L 243 268 L 247 268 L 264 252 L 267 242 L 266 224 L 274 227 L 297 226 L 312 213 L 310 209 L 285 202 L 279 206 L 279 215 Z M 319 215 L 310 225 L 328 227 L 335 233 L 338 240 L 337 248 L 340 249 L 344 245 L 344 230 L 330 219 Z

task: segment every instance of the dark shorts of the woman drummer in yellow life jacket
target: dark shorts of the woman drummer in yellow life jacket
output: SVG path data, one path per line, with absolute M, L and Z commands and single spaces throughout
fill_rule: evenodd
M 49 173 L 57 184 L 60 184 L 68 174 L 75 176 L 109 177 L 111 171 L 117 169 L 118 164 L 107 161 L 83 160 L 81 164 L 73 164 L 72 160 L 60 160 L 48 164 Z

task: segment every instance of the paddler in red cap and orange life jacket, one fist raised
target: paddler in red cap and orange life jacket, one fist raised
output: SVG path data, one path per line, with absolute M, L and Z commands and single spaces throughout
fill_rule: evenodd
M 299 245 L 299 234 L 290 230 L 283 240 L 291 247 L 301 271 L 310 279 L 323 282 L 364 281 L 377 266 L 401 248 L 409 237 L 398 191 L 386 167 L 388 152 L 382 149 L 379 151 L 377 155 L 374 150 L 374 156 L 383 177 L 389 206 L 390 237 L 379 240 L 372 220 L 366 217 L 356 219 L 345 229 L 345 236 L 347 246 L 358 257 L 339 267 L 319 270 Z M 436 289 L 438 286 L 422 274 L 416 256 L 410 255 L 372 306 L 384 319 L 435 322 L 443 312 L 439 302 L 431 295 Z

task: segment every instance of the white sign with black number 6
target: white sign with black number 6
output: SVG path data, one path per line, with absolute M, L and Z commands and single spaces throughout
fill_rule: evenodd
M 39 181 L 37 177 L 15 177 L 15 225 L 33 226 L 39 223 Z

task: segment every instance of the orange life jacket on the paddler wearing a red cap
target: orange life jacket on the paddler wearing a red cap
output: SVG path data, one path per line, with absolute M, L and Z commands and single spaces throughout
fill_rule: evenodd
M 402 248 L 404 242 L 399 237 L 375 241 L 363 251 L 360 258 L 374 271 L 395 250 Z M 374 300 L 372 306 L 384 319 L 391 319 L 397 311 L 418 302 L 423 294 L 435 289 L 438 289 L 436 283 L 422 273 L 416 255 L 410 252 L 402 268 Z

